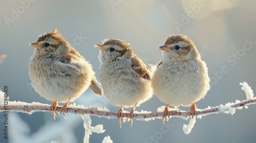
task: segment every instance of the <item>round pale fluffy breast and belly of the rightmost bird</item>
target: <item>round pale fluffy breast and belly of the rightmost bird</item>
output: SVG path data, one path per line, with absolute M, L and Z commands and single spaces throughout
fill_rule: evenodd
M 203 61 L 163 62 L 153 73 L 152 87 L 156 96 L 166 104 L 190 106 L 204 98 L 209 81 Z

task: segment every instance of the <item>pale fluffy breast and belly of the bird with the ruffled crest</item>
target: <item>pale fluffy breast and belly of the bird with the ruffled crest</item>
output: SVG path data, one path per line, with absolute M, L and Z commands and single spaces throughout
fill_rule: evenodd
M 50 101 L 74 101 L 88 89 L 94 77 L 91 64 L 81 58 L 62 63 L 53 58 L 31 57 L 29 75 L 32 86 L 42 97 Z

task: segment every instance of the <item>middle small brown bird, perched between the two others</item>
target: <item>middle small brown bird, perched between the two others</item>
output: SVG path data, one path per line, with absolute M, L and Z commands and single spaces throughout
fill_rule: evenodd
M 100 50 L 99 77 L 104 94 L 111 103 L 121 106 L 117 113 L 120 128 L 123 108 L 134 106 L 127 116 L 131 119 L 132 127 L 136 106 L 153 96 L 150 69 L 124 40 L 110 38 L 105 40 L 103 45 L 95 46 Z

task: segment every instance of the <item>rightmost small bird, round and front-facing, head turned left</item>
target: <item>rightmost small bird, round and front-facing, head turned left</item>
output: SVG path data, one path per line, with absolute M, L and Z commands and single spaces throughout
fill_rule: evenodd
M 196 115 L 195 102 L 203 99 L 210 89 L 207 67 L 192 40 L 185 35 L 170 35 L 163 46 L 162 60 L 152 71 L 152 88 L 156 96 L 168 104 L 164 117 L 169 118 L 168 106 L 190 106 L 189 116 Z M 154 68 L 154 67 L 153 67 Z

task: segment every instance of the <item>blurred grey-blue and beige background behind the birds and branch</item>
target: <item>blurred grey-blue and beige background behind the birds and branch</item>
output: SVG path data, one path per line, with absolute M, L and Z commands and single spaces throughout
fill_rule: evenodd
M 99 50 L 94 44 L 115 37 L 129 42 L 147 65 L 161 59 L 158 47 L 172 34 L 184 34 L 197 46 L 208 67 L 211 89 L 196 103 L 197 108 L 219 106 L 245 100 L 240 82 L 256 90 L 256 1 L 0 1 L 0 89 L 9 86 L 10 101 L 52 104 L 31 87 L 28 64 L 34 48 L 29 46 L 38 35 L 55 28 L 93 65 L 98 76 Z M 75 101 L 86 107 L 98 103 L 117 112 L 105 97 L 90 90 Z M 63 104 L 59 104 L 63 105 Z M 136 108 L 156 112 L 166 106 L 156 96 Z M 180 107 L 189 111 L 190 107 Z M 129 109 L 124 109 L 130 111 Z M 102 142 L 110 136 L 114 142 L 255 142 L 256 105 L 237 110 L 235 114 L 211 114 L 197 122 L 186 135 L 183 124 L 189 121 L 173 117 L 169 128 L 162 121 L 134 120 L 122 124 L 117 119 L 91 116 L 92 126 L 103 124 L 105 132 L 93 133 L 91 142 Z M 3 113 L 2 113 L 3 114 Z M 84 128 L 79 115 L 67 113 L 53 120 L 50 112 L 33 114 L 9 112 L 9 139 L 3 136 L 1 114 L 0 142 L 82 142 Z M 154 139 L 152 139 L 152 137 Z

